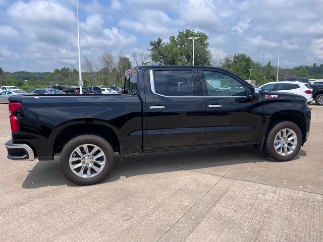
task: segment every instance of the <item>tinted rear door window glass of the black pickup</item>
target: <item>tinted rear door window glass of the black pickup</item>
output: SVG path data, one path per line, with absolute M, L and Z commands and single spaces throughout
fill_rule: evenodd
M 155 92 L 164 96 L 194 96 L 192 71 L 155 71 Z

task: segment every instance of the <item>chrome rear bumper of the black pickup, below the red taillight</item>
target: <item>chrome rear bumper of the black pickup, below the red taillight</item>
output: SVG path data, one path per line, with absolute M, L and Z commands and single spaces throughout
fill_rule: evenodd
M 12 140 L 9 140 L 5 144 L 8 151 L 8 159 L 11 160 L 35 160 L 34 151 L 27 144 L 14 144 Z

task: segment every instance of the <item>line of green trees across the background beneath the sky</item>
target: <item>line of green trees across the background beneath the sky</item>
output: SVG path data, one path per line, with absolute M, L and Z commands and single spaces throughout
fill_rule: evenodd
M 277 67 L 274 67 L 271 62 L 266 62 L 263 66 L 244 53 L 224 58 L 212 56 L 208 49 L 208 35 L 186 29 L 179 31 L 177 36 L 170 36 L 168 41 L 160 37 L 151 40 L 147 51 L 133 52 L 126 56 L 122 52 L 114 53 L 112 49 L 106 49 L 96 57 L 84 56 L 82 63 L 84 85 L 120 86 L 123 83 L 125 71 L 136 66 L 192 65 L 193 42 L 191 37 L 194 37 L 194 65 L 224 68 L 245 80 L 249 80 L 249 69 L 252 69 L 250 79 L 256 80 L 258 85 L 276 81 Z M 130 58 L 133 59 L 133 63 Z M 279 78 L 285 77 L 323 79 L 323 64 L 314 63 L 312 66 L 294 68 L 280 67 Z M 77 86 L 78 79 L 79 72 L 73 67 L 63 67 L 44 73 L 10 73 L 4 72 L 0 67 L 0 85 L 15 85 L 23 90 L 55 84 Z

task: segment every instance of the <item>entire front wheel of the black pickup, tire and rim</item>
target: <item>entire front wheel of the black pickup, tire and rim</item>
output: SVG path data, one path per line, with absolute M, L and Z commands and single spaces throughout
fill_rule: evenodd
M 293 159 L 299 152 L 302 143 L 302 133 L 292 122 L 276 123 L 267 135 L 263 147 L 264 154 L 275 161 Z

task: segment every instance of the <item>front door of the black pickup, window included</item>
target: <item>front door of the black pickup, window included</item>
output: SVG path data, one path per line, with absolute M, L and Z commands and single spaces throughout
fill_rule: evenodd
M 229 72 L 200 70 L 206 107 L 204 144 L 253 142 L 262 127 L 263 106 L 245 81 Z

